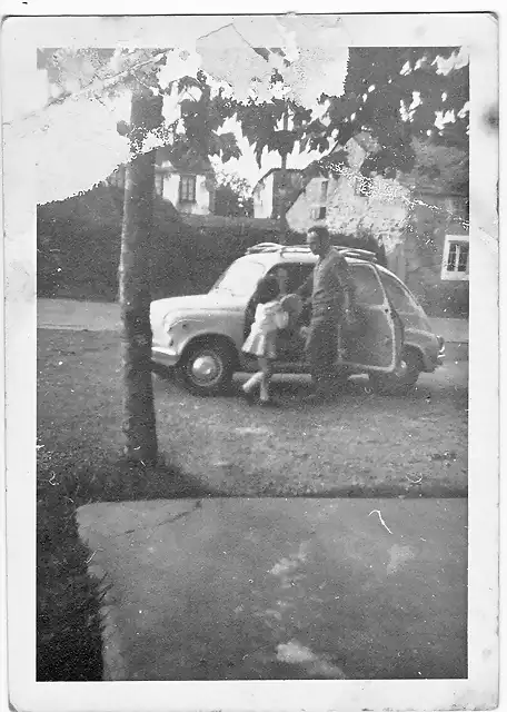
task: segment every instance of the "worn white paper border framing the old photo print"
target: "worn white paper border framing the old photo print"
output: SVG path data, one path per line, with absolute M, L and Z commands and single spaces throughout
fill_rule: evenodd
M 40 3 L 42 6 L 42 3 Z M 140 12 L 125 2 L 122 14 Z M 277 8 L 277 11 L 295 10 Z M 331 12 L 331 3 L 318 11 Z M 437 3 L 434 3 L 435 6 Z M 20 4 L 16 14 L 24 13 Z M 157 10 L 155 7 L 157 6 Z M 345 6 L 345 7 L 344 7 Z M 348 7 L 347 7 L 348 6 Z M 341 3 L 350 11 L 357 3 Z M 102 1 L 74 9 L 43 3 L 44 14 L 76 14 L 111 8 Z M 131 12 L 127 13 L 130 9 Z M 264 8 L 256 8 L 264 9 Z M 317 7 L 311 8 L 317 11 Z M 7 413 L 8 643 L 11 704 L 20 710 L 328 710 L 486 709 L 495 706 L 498 678 L 498 131 L 487 121 L 498 103 L 498 26 L 493 13 L 356 16 L 355 46 L 466 46 L 470 51 L 470 343 L 469 343 L 469 609 L 467 680 L 297 681 L 297 682 L 36 682 L 36 204 L 33 157 L 22 144 L 3 149 L 4 328 Z M 160 3 L 143 3 L 145 17 L 41 18 L 4 20 L 3 101 L 19 90 L 21 68 L 36 67 L 38 47 L 70 43 L 110 47 L 112 38 L 132 46 L 157 46 L 170 36 Z M 100 12 L 99 12 L 100 10 Z M 213 3 L 213 10 L 217 8 Z M 274 11 L 274 3 L 269 3 Z M 308 8 L 306 9 L 308 10 Z M 56 10 L 53 10 L 54 12 Z M 206 10 L 202 9 L 203 12 Z M 265 11 L 268 11 L 266 8 Z M 305 11 L 305 10 L 300 10 Z M 375 11 L 374 8 L 370 11 Z M 220 12 L 232 12 L 232 8 Z M 349 16 L 350 17 L 350 16 Z M 370 21 L 369 21 L 370 20 Z M 115 27 L 115 30 L 111 28 Z M 112 32 L 112 34 L 111 34 Z M 24 151 L 24 152 L 23 152 Z M 32 167 L 32 170 L 29 169 Z M 493 357 L 491 357 L 493 355 Z M 168 698 L 171 703 L 168 705 Z

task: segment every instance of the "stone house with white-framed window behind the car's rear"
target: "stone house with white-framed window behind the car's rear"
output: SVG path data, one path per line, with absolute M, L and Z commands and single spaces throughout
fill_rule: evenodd
M 361 166 L 375 150 L 361 134 L 302 170 L 287 210 L 289 228 L 325 225 L 348 241 L 369 234 L 429 314 L 466 316 L 468 186 L 449 191 L 438 180 L 414 182 L 399 171 L 365 177 Z

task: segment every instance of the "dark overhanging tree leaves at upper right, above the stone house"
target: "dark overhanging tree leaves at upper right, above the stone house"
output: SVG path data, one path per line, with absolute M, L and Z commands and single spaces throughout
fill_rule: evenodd
M 325 152 L 366 130 L 380 149 L 364 171 L 407 172 L 416 159 L 414 137 L 467 150 L 468 63 L 460 66 L 458 52 L 454 47 L 351 48 L 345 91 L 322 95 L 327 108 L 320 116 L 280 98 L 238 103 L 236 116 L 259 165 L 265 150 L 284 156 L 299 144 L 300 151 Z M 445 73 L 449 58 L 458 61 Z M 274 89 L 280 80 L 279 73 L 274 77 Z M 286 131 L 280 129 L 285 110 L 290 117 Z M 447 121 L 436 125 L 438 117 Z

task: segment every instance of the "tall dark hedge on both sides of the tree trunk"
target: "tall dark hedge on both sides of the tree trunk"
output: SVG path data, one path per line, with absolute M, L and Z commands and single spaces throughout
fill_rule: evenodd
M 109 186 L 39 206 L 39 296 L 115 300 L 121 219 L 122 192 Z M 205 291 L 247 247 L 278 239 L 272 227 L 251 222 L 189 225 L 159 200 L 151 235 L 153 298 Z

